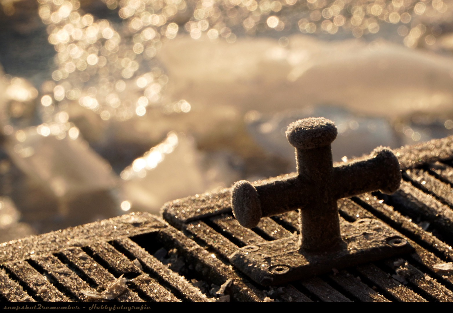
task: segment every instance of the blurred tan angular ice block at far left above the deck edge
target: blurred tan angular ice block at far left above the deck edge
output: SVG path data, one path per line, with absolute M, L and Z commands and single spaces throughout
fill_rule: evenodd
M 80 138 L 58 140 L 29 127 L 9 136 L 5 150 L 16 168 L 11 175 L 11 197 L 22 220 L 37 231 L 120 213 L 110 166 Z

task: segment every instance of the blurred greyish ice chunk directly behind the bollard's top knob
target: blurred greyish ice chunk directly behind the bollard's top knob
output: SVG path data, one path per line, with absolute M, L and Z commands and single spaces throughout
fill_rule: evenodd
M 256 116 L 251 120 L 251 116 Z M 295 170 L 294 147 L 286 140 L 285 131 L 290 123 L 306 117 L 323 116 L 335 122 L 337 139 L 332 143 L 333 161 L 342 157 L 358 157 L 369 154 L 376 146 L 399 147 L 399 140 L 385 118 L 361 117 L 334 107 L 318 106 L 298 111 L 285 111 L 273 115 L 249 111 L 247 130 L 255 140 L 270 154 L 287 159 Z

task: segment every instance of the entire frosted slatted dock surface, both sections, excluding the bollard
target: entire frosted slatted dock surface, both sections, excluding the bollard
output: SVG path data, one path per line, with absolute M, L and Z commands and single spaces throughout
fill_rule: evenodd
M 87 301 L 87 293 L 105 292 L 123 277 L 122 293 L 98 301 L 453 301 L 453 271 L 436 269 L 453 260 L 453 164 L 448 161 L 453 144 L 436 142 L 439 151 L 425 151 L 426 144 L 400 151 L 404 175 L 394 195 L 338 201 L 344 222 L 380 219 L 406 236 L 414 247 L 410 254 L 260 286 L 228 257 L 243 246 L 293 236 L 298 214 L 267 217 L 253 229 L 244 228 L 232 216 L 230 190 L 224 189 L 166 204 L 163 215 L 172 226 L 147 213 L 131 213 L 3 243 L 0 300 Z M 412 163 L 414 153 L 421 161 Z M 436 153 L 437 159 L 431 158 Z

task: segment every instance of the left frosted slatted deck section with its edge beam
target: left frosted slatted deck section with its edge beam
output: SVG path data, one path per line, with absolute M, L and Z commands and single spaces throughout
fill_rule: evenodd
M 127 288 L 117 301 L 209 301 L 129 238 L 140 235 L 153 241 L 166 228 L 154 216 L 132 213 L 5 243 L 0 296 L 5 301 L 93 300 L 87 292 L 102 292 L 124 275 Z

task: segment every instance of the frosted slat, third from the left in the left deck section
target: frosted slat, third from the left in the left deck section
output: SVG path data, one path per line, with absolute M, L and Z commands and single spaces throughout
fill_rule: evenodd
M 53 284 L 61 292 L 63 292 L 63 294 L 71 294 L 72 296 L 77 297 L 79 300 L 86 301 L 87 296 L 85 294 L 82 294 L 81 291 L 86 289 L 94 290 L 79 276 L 77 276 L 77 274 L 75 274 L 53 255 L 46 255 L 36 258 L 33 260 L 33 262 L 37 265 L 34 266 L 35 269 L 39 265 L 43 273 L 48 273 L 48 275 L 52 276 Z

